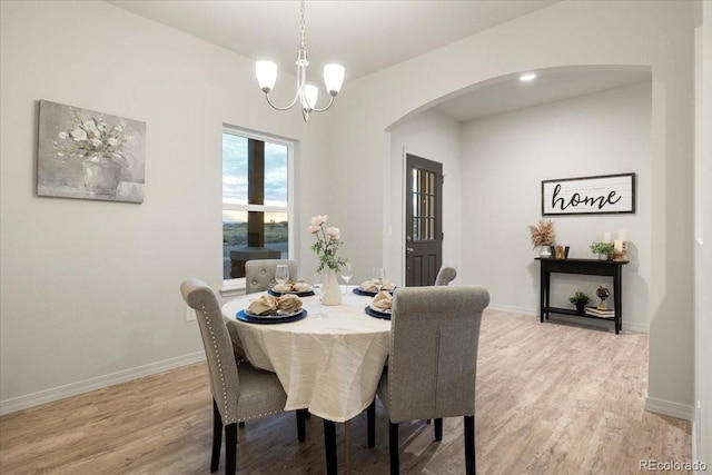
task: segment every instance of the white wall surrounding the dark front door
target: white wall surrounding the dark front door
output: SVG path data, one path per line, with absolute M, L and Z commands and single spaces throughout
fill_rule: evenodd
M 390 129 L 390 180 L 393 199 L 384 210 L 388 249 L 387 267 L 405 284 L 405 155 L 411 154 L 443 165 L 443 263 L 461 268 L 463 229 L 461 222 L 462 174 L 459 122 L 434 109 Z M 458 283 L 456 280 L 455 283 Z

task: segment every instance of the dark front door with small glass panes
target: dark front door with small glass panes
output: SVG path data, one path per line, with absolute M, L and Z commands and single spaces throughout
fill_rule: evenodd
M 405 285 L 428 286 L 443 263 L 443 165 L 406 154 Z

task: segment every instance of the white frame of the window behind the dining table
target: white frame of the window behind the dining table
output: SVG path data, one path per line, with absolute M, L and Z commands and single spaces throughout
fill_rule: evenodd
M 264 212 L 286 212 L 288 216 L 288 224 L 287 224 L 287 258 L 293 258 L 294 256 L 294 251 L 295 251 L 295 229 L 293 226 L 293 219 L 294 219 L 294 169 L 295 169 L 295 141 L 284 138 L 284 137 L 277 137 L 277 136 L 271 136 L 268 133 L 263 133 L 263 132 L 256 132 L 253 130 L 247 130 L 247 129 L 243 129 L 239 127 L 235 127 L 235 126 L 229 126 L 229 125 L 222 125 L 222 130 L 220 133 L 220 144 L 222 142 L 222 136 L 225 133 L 228 135 L 233 135 L 233 136 L 238 136 L 238 137 L 243 137 L 246 139 L 254 139 L 254 140 L 261 140 L 265 144 L 276 144 L 276 145 L 280 145 L 280 146 L 285 146 L 287 148 L 287 206 L 286 207 L 281 207 L 281 206 L 267 206 L 267 205 L 234 205 L 234 204 L 226 204 L 224 201 L 224 197 L 222 197 L 222 184 L 220 181 L 220 200 L 221 200 L 221 208 L 220 208 L 220 219 L 222 219 L 222 211 L 224 210 L 230 210 L 230 211 L 264 211 Z M 224 160 L 224 150 L 220 147 L 221 152 L 220 152 L 220 169 L 222 168 L 222 160 Z M 220 178 L 224 178 L 222 172 L 220 171 Z M 249 177 L 248 177 L 249 179 Z M 224 232 L 224 225 L 222 222 L 220 224 L 220 234 L 222 235 Z M 224 253 L 220 253 L 224 256 Z M 222 270 L 221 270 L 222 274 Z M 226 279 L 225 275 L 222 275 L 222 287 L 220 288 L 220 294 L 222 296 L 230 296 L 230 295 L 235 295 L 238 293 L 241 293 L 243 290 L 245 290 L 246 287 L 246 283 L 245 283 L 245 277 L 237 277 L 237 278 L 229 278 Z

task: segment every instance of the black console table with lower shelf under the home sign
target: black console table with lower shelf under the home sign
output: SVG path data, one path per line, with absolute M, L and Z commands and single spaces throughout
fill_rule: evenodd
M 627 260 L 599 260 L 599 259 L 554 259 L 536 257 L 541 263 L 541 295 L 540 295 L 540 320 L 544 323 L 544 315 L 548 319 L 548 314 L 574 315 L 576 317 L 595 318 L 614 323 L 615 334 L 623 329 L 623 265 Z M 590 276 L 606 276 L 613 278 L 613 318 L 596 317 L 593 315 L 580 314 L 575 309 L 551 307 L 548 305 L 548 293 L 551 290 L 551 276 L 558 274 L 584 274 Z

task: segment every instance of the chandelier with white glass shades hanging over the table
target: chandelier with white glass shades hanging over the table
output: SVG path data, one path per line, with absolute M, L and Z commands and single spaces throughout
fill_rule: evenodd
M 329 93 L 329 103 L 322 109 L 317 109 L 316 101 L 319 96 L 319 90 L 314 85 L 307 83 L 307 66 L 309 66 L 309 61 L 307 61 L 307 47 L 304 42 L 304 10 L 305 10 L 305 0 L 300 1 L 301 4 L 301 31 L 300 31 L 300 43 L 299 43 L 299 52 L 297 53 L 297 92 L 294 97 L 294 100 L 289 106 L 279 107 L 275 106 L 269 98 L 269 92 L 275 88 L 275 82 L 277 81 L 277 63 L 273 61 L 257 61 L 255 63 L 255 71 L 257 72 L 257 82 L 259 83 L 259 88 L 265 92 L 265 98 L 267 102 L 271 107 L 277 110 L 287 110 L 290 109 L 297 100 L 301 106 L 301 117 L 304 121 L 309 120 L 309 113 L 312 112 L 324 112 L 334 103 L 334 98 L 342 89 L 342 85 L 344 83 L 344 67 L 340 65 L 326 65 L 324 67 L 324 85 L 326 86 L 326 90 Z

